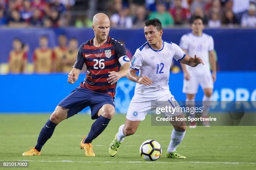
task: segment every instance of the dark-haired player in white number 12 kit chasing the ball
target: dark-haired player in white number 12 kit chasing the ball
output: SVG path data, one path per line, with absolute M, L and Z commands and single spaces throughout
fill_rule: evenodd
M 146 114 L 151 111 L 152 100 L 175 101 L 168 84 L 173 58 L 191 67 L 203 64 L 199 57 L 189 57 L 178 45 L 162 40 L 163 30 L 158 19 L 146 21 L 144 34 L 147 42 L 136 50 L 127 74 L 129 80 L 137 82 L 135 94 L 128 108 L 125 124 L 120 126 L 110 144 L 110 156 L 117 154 L 120 144 L 126 136 L 136 132 L 141 120 L 144 120 Z M 139 76 L 136 75 L 138 70 Z M 183 114 L 179 114 L 177 117 L 183 117 Z M 178 124 L 172 122 L 174 130 L 167 150 L 167 157 L 186 159 L 176 151 L 186 131 L 184 122 Z

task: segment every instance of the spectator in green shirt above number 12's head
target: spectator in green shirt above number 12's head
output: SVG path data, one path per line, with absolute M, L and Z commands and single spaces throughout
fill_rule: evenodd
M 165 28 L 174 25 L 172 15 L 166 11 L 166 2 L 164 0 L 156 1 L 156 12 L 150 13 L 148 19 L 151 20 L 153 18 L 159 19 Z

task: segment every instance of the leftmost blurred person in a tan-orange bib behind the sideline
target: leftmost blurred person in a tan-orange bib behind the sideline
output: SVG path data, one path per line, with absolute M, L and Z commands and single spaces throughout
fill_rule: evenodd
M 23 44 L 20 39 L 15 38 L 13 40 L 13 50 L 9 53 L 9 72 L 10 73 L 22 73 L 26 71 L 26 65 L 28 56 L 23 49 Z

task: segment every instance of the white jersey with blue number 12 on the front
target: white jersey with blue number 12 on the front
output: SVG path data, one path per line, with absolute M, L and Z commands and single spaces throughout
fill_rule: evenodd
M 138 100 L 148 100 L 169 92 L 169 75 L 172 59 L 179 61 L 185 57 L 186 53 L 172 42 L 163 41 L 160 50 L 154 50 L 148 42 L 138 48 L 132 58 L 130 67 L 139 70 L 139 76 L 147 76 L 153 84 L 146 86 L 136 84 L 135 94 Z

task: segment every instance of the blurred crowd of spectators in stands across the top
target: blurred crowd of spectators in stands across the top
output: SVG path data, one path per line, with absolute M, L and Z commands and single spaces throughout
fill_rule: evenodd
M 92 15 L 108 14 L 112 27 L 143 28 L 159 18 L 166 27 L 187 27 L 196 15 L 210 28 L 256 27 L 255 0 L 0 0 L 0 25 L 91 27 Z

